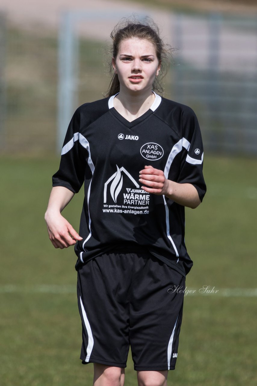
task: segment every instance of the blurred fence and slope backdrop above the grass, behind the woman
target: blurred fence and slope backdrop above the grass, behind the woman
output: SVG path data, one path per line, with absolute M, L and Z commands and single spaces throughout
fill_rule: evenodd
M 153 17 L 174 47 L 165 96 L 196 111 L 206 151 L 256 155 L 255 7 L 208 0 L 198 7 L 162 0 L 154 8 L 142 1 L 1 3 L 3 152 L 36 155 L 61 147 L 77 105 L 107 90 L 110 31 L 134 13 Z

